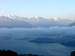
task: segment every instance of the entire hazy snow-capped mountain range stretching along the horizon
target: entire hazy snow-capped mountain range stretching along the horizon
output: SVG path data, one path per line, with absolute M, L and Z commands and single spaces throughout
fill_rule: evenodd
M 50 26 L 68 26 L 74 20 L 62 18 L 46 17 L 7 17 L 0 16 L 0 27 L 50 27 Z

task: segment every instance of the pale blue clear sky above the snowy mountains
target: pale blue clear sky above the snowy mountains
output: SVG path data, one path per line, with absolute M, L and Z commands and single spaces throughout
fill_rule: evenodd
M 75 0 L 0 0 L 0 15 L 74 16 Z

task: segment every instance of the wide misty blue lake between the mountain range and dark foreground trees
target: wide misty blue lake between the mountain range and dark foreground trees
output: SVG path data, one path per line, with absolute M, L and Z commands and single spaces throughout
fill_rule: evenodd
M 64 35 L 73 36 L 63 37 Z M 44 56 L 69 56 L 75 45 L 61 44 L 74 41 L 75 27 L 50 27 L 50 28 L 0 28 L 0 49 L 14 50 L 18 53 L 32 53 Z M 44 43 L 36 42 L 46 38 L 60 40 Z M 62 40 L 64 38 L 64 41 Z M 70 39 L 71 38 L 71 39 Z M 31 42 L 35 40 L 34 42 Z M 54 41 L 51 40 L 51 41 Z M 50 41 L 50 40 L 48 40 Z

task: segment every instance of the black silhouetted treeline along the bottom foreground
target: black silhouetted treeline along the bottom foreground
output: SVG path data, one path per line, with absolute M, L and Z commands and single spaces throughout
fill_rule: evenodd
M 0 50 L 0 56 L 39 56 L 39 55 L 34 55 L 34 54 L 18 54 L 15 51 L 11 50 Z M 75 56 L 75 51 L 72 51 L 70 53 L 70 56 Z

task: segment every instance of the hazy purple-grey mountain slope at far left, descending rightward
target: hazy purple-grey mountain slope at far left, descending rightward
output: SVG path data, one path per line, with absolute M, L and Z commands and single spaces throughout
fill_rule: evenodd
M 31 27 L 31 24 L 5 16 L 0 17 L 0 27 Z

